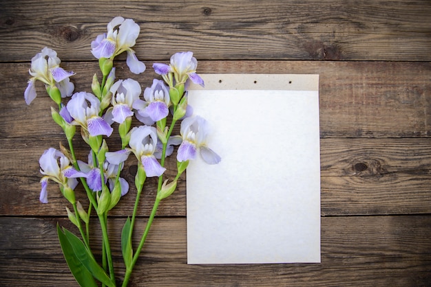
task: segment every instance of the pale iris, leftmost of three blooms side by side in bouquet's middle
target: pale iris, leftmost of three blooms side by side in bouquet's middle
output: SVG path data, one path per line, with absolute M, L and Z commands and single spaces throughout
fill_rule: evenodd
M 97 135 L 109 137 L 114 129 L 98 115 L 101 111 L 100 106 L 101 103 L 92 93 L 79 92 L 72 95 L 66 107 L 74 119 L 72 124 L 81 126 L 93 137 Z

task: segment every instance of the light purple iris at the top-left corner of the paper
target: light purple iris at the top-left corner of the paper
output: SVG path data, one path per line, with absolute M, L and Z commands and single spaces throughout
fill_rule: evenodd
M 196 73 L 198 67 L 198 60 L 193 57 L 191 51 L 179 52 L 171 56 L 170 65 L 162 63 L 154 63 L 154 71 L 161 75 L 165 82 L 169 83 L 171 87 L 171 80 L 168 74 L 173 73 L 176 84 L 184 84 L 187 79 L 190 79 L 195 84 L 200 84 L 204 87 L 204 80 Z

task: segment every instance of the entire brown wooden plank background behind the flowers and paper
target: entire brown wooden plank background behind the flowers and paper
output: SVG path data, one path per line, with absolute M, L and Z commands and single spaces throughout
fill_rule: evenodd
M 76 72 L 76 91 L 91 91 L 90 43 L 118 15 L 140 25 L 134 49 L 149 69 L 133 75 L 120 57 L 117 76 L 143 88 L 156 76 L 152 62 L 186 50 L 199 73 L 320 75 L 322 264 L 187 265 L 183 176 L 158 210 L 131 286 L 431 286 L 429 0 L 1 1 L 1 286 L 76 286 L 56 237 L 57 222 L 74 228 L 67 202 L 51 184 L 50 203 L 39 203 L 39 157 L 66 141 L 41 83 L 30 106 L 23 91 L 45 46 Z M 131 183 L 133 164 L 123 170 Z M 147 186 L 139 228 L 155 196 Z M 109 217 L 120 279 L 116 230 L 135 194 Z

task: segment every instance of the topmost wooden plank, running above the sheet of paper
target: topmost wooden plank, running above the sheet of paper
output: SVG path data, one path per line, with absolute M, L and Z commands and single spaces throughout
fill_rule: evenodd
M 96 0 L 55 12 L 49 0 L 2 4 L 1 62 L 28 60 L 45 45 L 63 60 L 93 60 L 91 41 L 116 15 L 139 23 L 136 54 L 145 60 L 177 50 L 206 60 L 431 60 L 427 0 Z

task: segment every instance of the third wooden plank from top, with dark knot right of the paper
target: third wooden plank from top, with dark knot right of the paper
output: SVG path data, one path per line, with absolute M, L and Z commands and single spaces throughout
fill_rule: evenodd
M 50 203 L 39 203 L 39 157 L 57 142 L 39 139 L 0 139 L 0 215 L 63 216 L 67 201 L 55 183 L 49 185 Z M 76 148 L 76 150 L 79 150 Z M 83 149 L 87 151 L 87 148 Z M 87 152 L 79 152 L 85 160 Z M 166 175 L 176 175 L 174 157 L 167 160 Z M 430 214 L 431 150 L 430 139 L 322 139 L 321 140 L 322 215 L 352 214 Z M 110 214 L 132 214 L 136 189 L 136 159 L 131 156 L 122 176 L 130 183 Z M 149 216 L 155 198 L 156 180 L 149 179 L 141 197 L 139 214 Z M 13 191 L 13 192 L 11 192 Z M 298 191 L 299 192 L 299 191 Z M 85 205 L 85 193 L 76 194 Z M 178 190 L 160 205 L 160 216 L 186 215 L 185 174 Z

